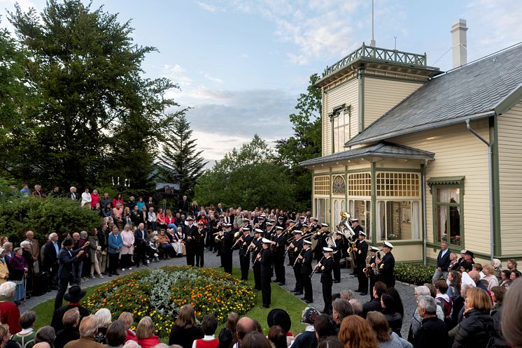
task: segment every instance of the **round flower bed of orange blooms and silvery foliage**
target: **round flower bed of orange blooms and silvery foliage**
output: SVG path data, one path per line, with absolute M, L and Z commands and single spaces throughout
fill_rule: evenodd
M 186 303 L 195 307 L 197 319 L 216 315 L 223 322 L 230 312 L 243 314 L 255 305 L 255 291 L 223 270 L 167 266 L 140 270 L 101 285 L 83 305 L 91 313 L 108 308 L 117 319 L 122 312 L 134 314 L 136 325 L 151 317 L 156 335 L 169 335 L 178 311 Z

